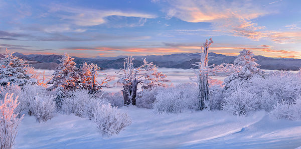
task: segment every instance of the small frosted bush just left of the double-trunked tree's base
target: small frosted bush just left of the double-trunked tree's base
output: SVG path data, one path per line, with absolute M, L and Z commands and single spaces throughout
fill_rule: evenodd
M 123 95 L 122 92 L 105 92 L 103 93 L 102 97 L 106 99 L 112 106 L 123 106 Z

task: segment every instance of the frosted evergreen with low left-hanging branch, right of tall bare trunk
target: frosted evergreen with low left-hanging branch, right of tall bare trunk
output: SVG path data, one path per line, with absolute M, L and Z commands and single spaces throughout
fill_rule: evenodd
M 254 54 L 250 50 L 243 49 L 240 54 L 234 60 L 234 65 L 240 67 L 240 70 L 228 76 L 225 81 L 225 89 L 230 87 L 230 82 L 233 80 L 247 80 L 254 75 L 263 75 L 264 71 L 259 69 L 259 64 L 256 63 L 256 59 L 253 58 Z

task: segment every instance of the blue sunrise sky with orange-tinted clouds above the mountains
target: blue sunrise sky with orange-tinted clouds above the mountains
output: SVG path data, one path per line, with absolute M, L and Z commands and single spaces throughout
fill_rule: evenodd
M 0 52 L 78 57 L 209 52 L 301 58 L 301 1 L 3 1 Z

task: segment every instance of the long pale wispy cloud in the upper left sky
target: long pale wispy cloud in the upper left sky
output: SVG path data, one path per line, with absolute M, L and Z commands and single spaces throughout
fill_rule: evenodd
M 60 20 L 72 22 L 78 26 L 96 26 L 107 22 L 109 16 L 136 17 L 144 19 L 156 18 L 155 15 L 136 12 L 124 12 L 118 10 L 94 10 L 79 7 L 67 7 L 62 5 L 52 5 L 50 13 L 55 13 Z

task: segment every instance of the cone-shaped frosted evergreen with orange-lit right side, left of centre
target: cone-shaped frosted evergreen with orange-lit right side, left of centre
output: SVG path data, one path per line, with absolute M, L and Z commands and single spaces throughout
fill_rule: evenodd
M 52 74 L 53 78 L 47 84 L 53 84 L 49 89 L 53 90 L 61 87 L 63 91 L 70 91 L 79 88 L 79 71 L 73 62 L 74 58 L 71 58 L 67 53 L 59 59 L 61 62 Z

